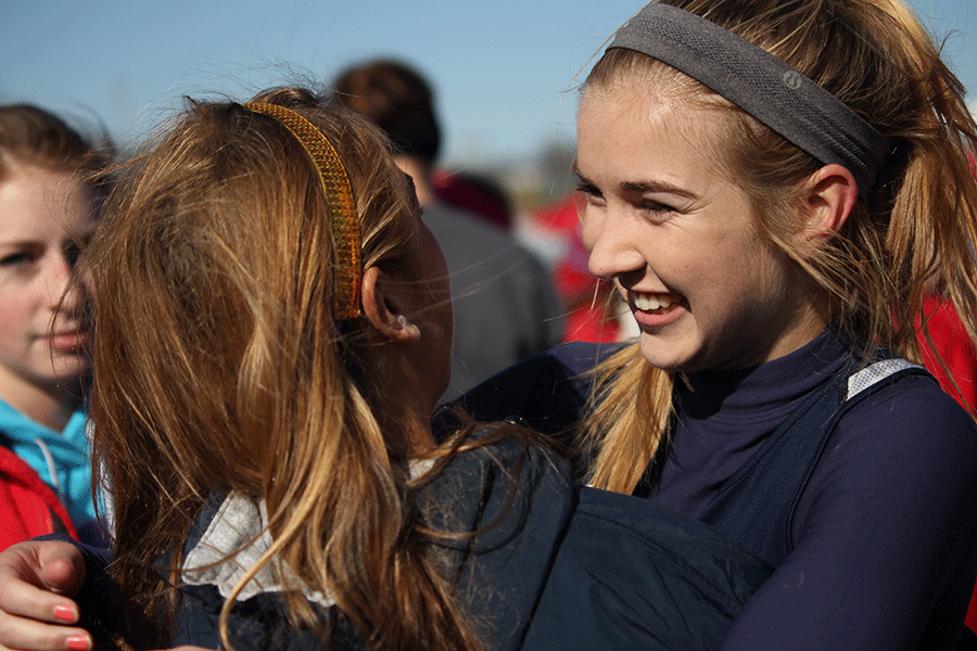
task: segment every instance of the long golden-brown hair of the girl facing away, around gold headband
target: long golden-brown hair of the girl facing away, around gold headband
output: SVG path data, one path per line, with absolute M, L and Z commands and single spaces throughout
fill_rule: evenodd
M 364 267 L 397 268 L 417 205 L 365 119 L 299 89 L 255 101 L 301 114 L 346 167 Z M 119 170 L 90 248 L 91 416 L 112 481 L 114 575 L 137 647 L 165 643 L 183 541 L 210 493 L 263 499 L 274 544 L 257 570 L 294 576 L 294 625 L 330 635 L 300 587 L 329 595 L 377 649 L 474 649 L 418 532 L 406 433 L 381 431 L 361 321 L 333 315 L 332 230 L 318 173 L 276 119 L 188 101 Z M 160 567 L 157 560 L 167 559 Z

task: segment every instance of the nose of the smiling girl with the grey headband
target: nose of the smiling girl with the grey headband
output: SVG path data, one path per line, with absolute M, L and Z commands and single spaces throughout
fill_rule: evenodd
M 591 252 L 587 261 L 591 273 L 609 280 L 645 266 L 633 221 L 632 216 L 613 206 L 584 209 L 582 233 L 584 245 Z

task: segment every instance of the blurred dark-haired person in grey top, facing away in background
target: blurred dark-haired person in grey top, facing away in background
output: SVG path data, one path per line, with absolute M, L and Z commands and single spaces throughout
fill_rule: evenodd
M 562 304 L 543 265 L 504 230 L 437 196 L 441 127 L 428 81 L 404 63 L 373 60 L 332 86 L 338 104 L 372 120 L 399 149 L 397 165 L 414 179 L 424 224 L 447 259 L 455 340 L 444 398 L 559 343 Z

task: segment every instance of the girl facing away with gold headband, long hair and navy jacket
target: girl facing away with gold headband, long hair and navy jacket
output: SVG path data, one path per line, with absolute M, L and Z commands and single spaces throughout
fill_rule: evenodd
M 576 490 L 511 422 L 435 442 L 444 256 L 390 143 L 320 95 L 188 100 L 119 167 L 84 265 L 122 599 L 91 550 L 87 587 L 45 596 L 9 563 L 65 542 L 11 547 L 0 650 L 109 628 L 143 649 L 708 651 L 769 575 L 700 522 Z M 78 608 L 84 627 L 38 621 Z

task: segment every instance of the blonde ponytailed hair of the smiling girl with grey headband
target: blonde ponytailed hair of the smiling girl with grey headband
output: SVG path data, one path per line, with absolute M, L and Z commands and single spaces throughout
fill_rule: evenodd
M 916 321 L 938 286 L 977 340 L 977 187 L 968 156 L 977 127 L 964 89 L 900 0 L 664 0 L 760 46 L 826 88 L 885 136 L 893 152 L 872 200 L 816 251 L 792 233 L 803 182 L 822 164 L 689 77 L 644 54 L 609 50 L 588 88 L 671 77 L 689 101 L 727 119 L 721 164 L 752 204 L 757 228 L 830 302 L 841 331 L 921 359 Z M 830 43 L 830 47 L 827 47 Z M 928 337 L 928 334 L 924 334 Z M 597 370 L 583 424 L 595 485 L 631 493 L 660 451 L 674 378 L 642 363 L 637 346 Z M 652 471 L 654 472 L 654 471 Z

